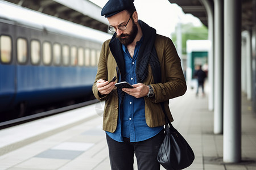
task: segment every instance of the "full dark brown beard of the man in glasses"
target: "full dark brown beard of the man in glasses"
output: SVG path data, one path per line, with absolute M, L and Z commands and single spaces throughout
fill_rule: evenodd
M 131 44 L 131 42 L 134 41 L 134 39 L 135 39 L 135 37 L 137 36 L 137 33 L 138 33 L 137 25 L 134 23 L 133 18 L 131 18 L 131 20 L 133 21 L 133 28 L 131 29 L 131 32 L 130 33 L 122 33 L 119 36 L 116 35 L 116 37 L 119 39 L 121 44 L 123 44 L 125 46 Z

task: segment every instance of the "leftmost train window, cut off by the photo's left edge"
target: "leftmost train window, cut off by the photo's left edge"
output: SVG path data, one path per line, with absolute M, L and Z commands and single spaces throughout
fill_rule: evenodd
M 11 37 L 0 36 L 0 52 L 1 62 L 11 62 Z

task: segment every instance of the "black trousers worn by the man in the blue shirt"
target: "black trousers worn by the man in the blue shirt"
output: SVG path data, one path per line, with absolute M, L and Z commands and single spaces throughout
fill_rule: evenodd
M 106 134 L 111 169 L 133 170 L 135 153 L 138 170 L 159 170 L 160 164 L 158 163 L 157 155 L 163 139 L 164 130 L 154 137 L 141 142 L 130 142 L 130 138 L 123 138 L 124 142 L 117 142 Z

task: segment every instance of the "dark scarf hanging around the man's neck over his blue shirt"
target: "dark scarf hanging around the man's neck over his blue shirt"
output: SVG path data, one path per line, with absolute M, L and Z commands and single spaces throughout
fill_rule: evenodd
M 142 20 L 138 20 L 138 23 L 141 25 L 143 33 L 143 42 L 141 48 L 139 49 L 137 65 L 136 65 L 136 76 L 137 83 L 143 83 L 148 76 L 148 64 L 151 66 L 152 73 L 154 76 L 154 82 L 161 82 L 161 70 L 158 56 L 155 50 L 155 37 L 156 30 Z M 109 42 L 110 50 L 117 62 L 118 69 L 121 73 L 121 81 L 125 80 L 125 61 L 123 59 L 122 44 L 119 42 L 114 33 L 112 39 Z

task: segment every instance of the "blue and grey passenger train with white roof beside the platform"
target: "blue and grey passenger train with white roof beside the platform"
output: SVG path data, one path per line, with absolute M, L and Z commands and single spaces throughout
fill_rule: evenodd
M 0 1 L 0 119 L 92 94 L 101 46 L 111 37 Z

